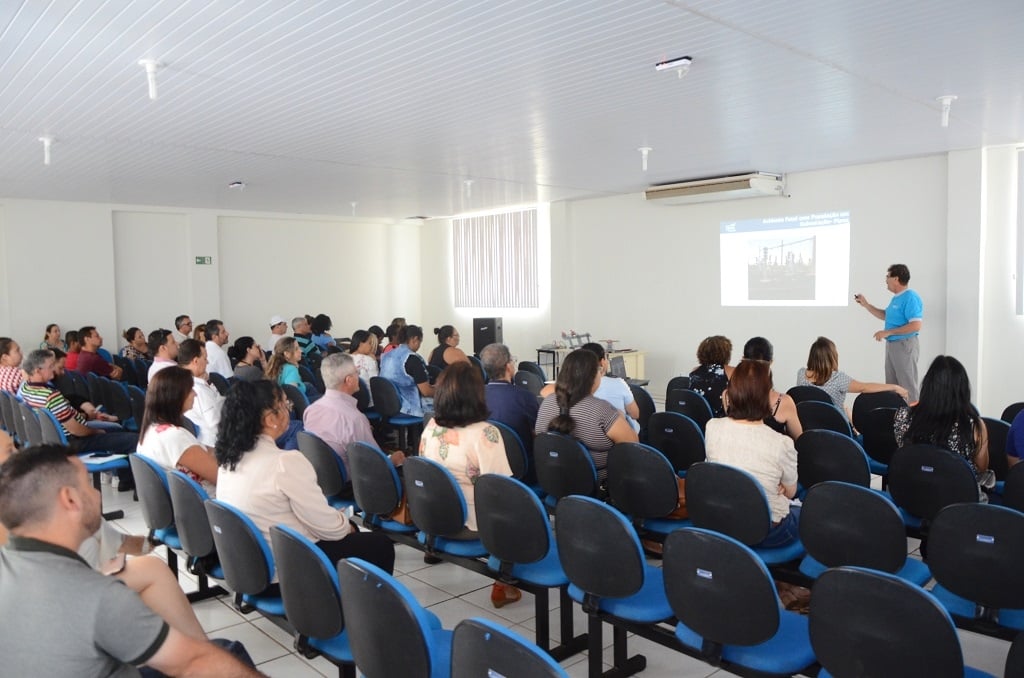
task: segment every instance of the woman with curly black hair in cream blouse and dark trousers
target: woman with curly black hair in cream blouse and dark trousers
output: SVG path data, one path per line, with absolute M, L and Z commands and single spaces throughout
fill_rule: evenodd
M 231 388 L 217 438 L 217 497 L 252 518 L 267 543 L 270 526 L 285 524 L 316 542 L 332 562 L 362 558 L 392 573 L 391 540 L 358 532 L 327 503 L 309 460 L 274 446 L 288 425 L 288 400 L 278 384 L 240 381 Z

